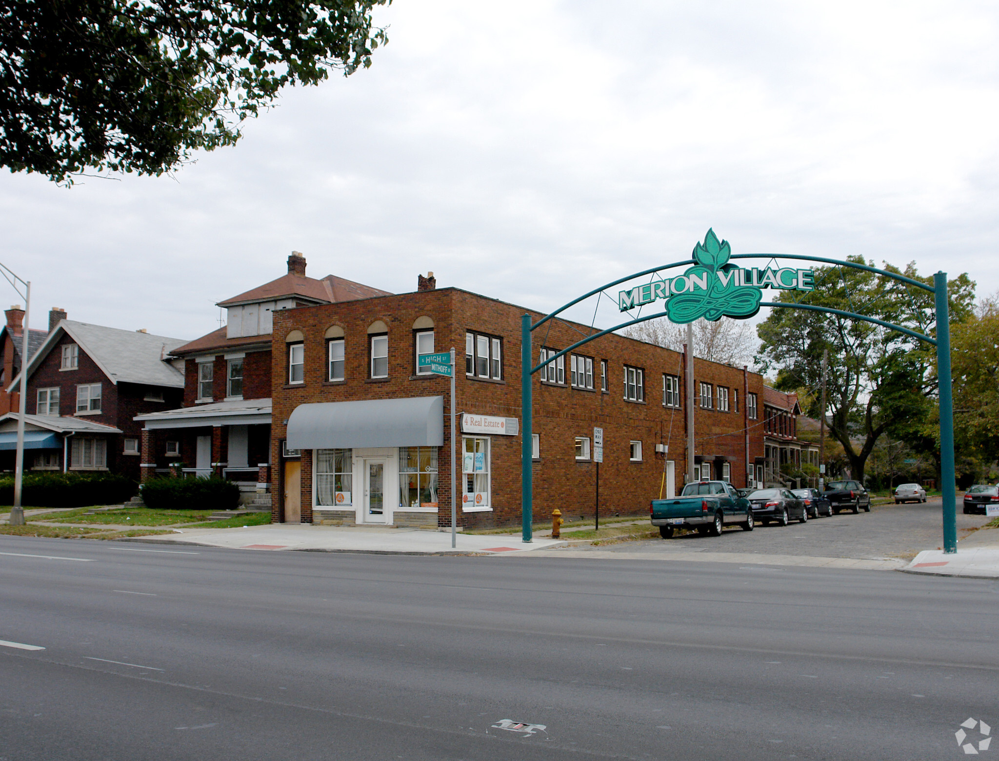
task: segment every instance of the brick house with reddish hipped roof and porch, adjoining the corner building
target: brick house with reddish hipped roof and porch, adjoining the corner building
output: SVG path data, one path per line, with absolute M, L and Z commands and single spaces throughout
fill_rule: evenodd
M 142 426 L 142 478 L 171 469 L 212 473 L 240 483 L 244 501 L 269 480 L 271 343 L 284 310 L 387 295 L 387 291 L 328 275 L 306 277 L 306 259 L 288 258 L 288 273 L 219 302 L 226 325 L 172 350 L 183 363 L 179 406 L 136 416 Z

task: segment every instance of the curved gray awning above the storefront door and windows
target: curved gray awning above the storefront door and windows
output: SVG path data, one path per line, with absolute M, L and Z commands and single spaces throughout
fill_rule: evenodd
M 289 449 L 443 444 L 444 396 L 300 404 L 288 418 Z

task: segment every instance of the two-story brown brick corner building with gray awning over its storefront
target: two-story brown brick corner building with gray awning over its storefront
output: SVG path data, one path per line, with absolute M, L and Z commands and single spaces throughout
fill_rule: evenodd
M 274 317 L 273 519 L 450 525 L 450 381 L 419 354 L 457 350 L 459 523 L 520 520 L 520 317 L 524 310 L 420 278 L 415 293 L 288 310 Z M 530 313 L 536 320 L 538 313 Z M 538 331 L 543 362 L 591 329 Z M 283 345 L 283 346 L 282 346 Z M 682 483 L 684 358 L 617 335 L 533 379 L 535 514 L 592 515 L 593 427 L 603 428 L 601 514 L 640 514 Z M 760 376 L 695 361 L 700 477 L 747 485 L 763 455 Z M 745 403 L 751 400 L 751 404 Z

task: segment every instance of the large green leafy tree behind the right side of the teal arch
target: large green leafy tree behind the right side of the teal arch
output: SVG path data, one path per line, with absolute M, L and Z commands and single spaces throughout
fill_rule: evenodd
M 863 259 L 849 261 L 864 264 Z M 871 264 L 873 266 L 873 263 Z M 932 285 L 920 278 L 915 265 L 905 272 L 885 265 L 889 272 Z M 875 273 L 845 267 L 815 271 L 816 288 L 799 301 L 873 317 L 931 336 L 934 331 L 933 295 Z M 948 282 L 951 321 L 971 315 L 974 283 L 967 275 Z M 792 292 L 775 301 L 791 302 Z M 932 416 L 936 391 L 934 348 L 904 334 L 838 315 L 775 309 L 759 326 L 757 362 L 763 371 L 777 370 L 775 386 L 809 390 L 806 413 L 826 413 L 829 433 L 843 446 L 855 478 L 878 437 L 885 431 L 910 445 L 925 438 L 925 422 Z M 819 408 L 822 353 L 827 350 L 827 410 Z

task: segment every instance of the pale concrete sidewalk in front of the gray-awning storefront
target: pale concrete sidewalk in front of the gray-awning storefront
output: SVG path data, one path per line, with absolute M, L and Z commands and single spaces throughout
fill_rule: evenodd
M 313 552 L 367 552 L 375 554 L 511 554 L 549 549 L 564 542 L 536 538 L 530 544 L 518 534 L 458 534 L 452 549 L 451 531 L 380 526 L 321 526 L 271 523 L 247 528 L 183 528 L 159 536 L 134 536 L 118 541 L 152 544 L 200 544 L 230 549 L 300 550 Z

